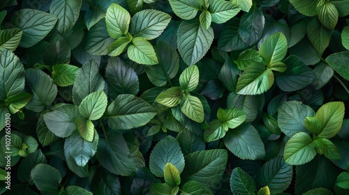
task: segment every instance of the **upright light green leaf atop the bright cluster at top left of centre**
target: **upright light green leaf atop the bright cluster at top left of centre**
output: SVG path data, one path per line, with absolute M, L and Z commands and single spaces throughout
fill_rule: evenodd
M 126 35 L 130 21 L 130 13 L 118 4 L 112 3 L 107 8 L 105 23 L 107 24 L 108 34 L 112 38 L 118 39 L 121 38 L 122 35 Z

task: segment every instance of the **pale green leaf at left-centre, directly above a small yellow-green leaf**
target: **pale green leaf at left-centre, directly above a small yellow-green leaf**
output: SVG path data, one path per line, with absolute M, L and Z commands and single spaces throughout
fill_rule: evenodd
M 104 91 L 90 93 L 82 99 L 79 110 L 82 117 L 89 120 L 98 120 L 107 108 L 107 95 Z

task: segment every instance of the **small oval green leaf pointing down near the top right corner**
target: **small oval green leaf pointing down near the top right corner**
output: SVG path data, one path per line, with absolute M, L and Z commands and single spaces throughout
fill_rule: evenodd
M 322 25 L 327 29 L 334 29 L 339 17 L 338 10 L 334 4 L 331 2 L 318 3 L 318 6 L 316 6 L 316 13 Z

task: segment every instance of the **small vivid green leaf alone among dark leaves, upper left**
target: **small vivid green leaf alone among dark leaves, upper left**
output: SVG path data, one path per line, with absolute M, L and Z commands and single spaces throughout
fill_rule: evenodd
M 79 70 L 75 65 L 57 64 L 52 67 L 52 79 L 58 86 L 70 86 Z

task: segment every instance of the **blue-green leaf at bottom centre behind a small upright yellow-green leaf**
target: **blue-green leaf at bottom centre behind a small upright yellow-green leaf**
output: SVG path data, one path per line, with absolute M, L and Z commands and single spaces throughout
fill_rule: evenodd
M 184 156 L 177 139 L 168 136 L 161 139 L 151 150 L 149 167 L 151 173 L 163 177 L 166 164 L 172 164 L 181 173 L 184 169 Z

